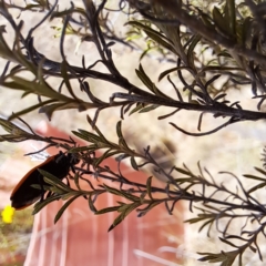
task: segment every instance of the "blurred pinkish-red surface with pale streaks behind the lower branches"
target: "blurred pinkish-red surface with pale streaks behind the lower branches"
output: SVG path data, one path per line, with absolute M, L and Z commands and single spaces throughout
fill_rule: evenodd
M 68 137 L 48 125 L 41 131 L 47 136 Z M 86 145 L 81 142 L 79 144 Z M 53 147 L 48 152 L 55 154 L 58 150 Z M 104 165 L 117 168 L 114 158 L 108 158 Z M 133 171 L 125 164 L 122 164 L 121 170 L 126 178 L 145 184 L 144 173 Z M 94 177 L 90 181 L 94 186 L 98 185 Z M 71 185 L 74 187 L 74 184 Z M 153 185 L 162 184 L 153 181 Z M 101 209 L 113 206 L 116 201 L 125 202 L 124 198 L 104 194 L 98 198 L 96 207 Z M 62 205 L 62 201 L 53 202 L 35 215 L 25 266 L 176 266 L 182 262 L 175 253 L 160 252 L 165 246 L 177 247 L 176 242 L 170 243 L 171 237 L 183 242 L 180 205 L 174 215 L 168 215 L 164 205 L 156 206 L 141 218 L 133 212 L 110 233 L 108 228 L 117 214 L 94 215 L 83 197 L 74 201 L 54 225 L 54 216 Z

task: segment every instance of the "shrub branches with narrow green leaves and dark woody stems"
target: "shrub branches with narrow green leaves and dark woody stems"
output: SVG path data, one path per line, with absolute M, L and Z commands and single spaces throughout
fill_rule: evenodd
M 11 114 L 9 120 L 0 119 L 0 125 L 8 133 L 0 135 L 0 141 L 43 141 L 48 146 L 60 146 L 82 161 L 82 167 L 75 166 L 74 176 L 70 176 L 74 180 L 75 187 L 70 187 L 50 173 L 41 172 L 45 182 L 51 185 L 44 187 L 51 195 L 37 203 L 33 213 L 61 198 L 65 203 L 55 215 L 57 222 L 75 198 L 84 197 L 90 209 L 96 215 L 117 213 L 110 226 L 110 229 L 113 229 L 133 211 L 141 217 L 155 206 L 164 204 L 168 214 L 172 214 L 175 204 L 184 201 L 188 203 L 191 211 L 197 209 L 197 215 L 186 221 L 187 223 L 200 223 L 198 231 L 207 229 L 208 235 L 212 229 L 216 231 L 221 242 L 229 248 L 233 247 L 232 250 L 217 253 L 201 250 L 200 260 L 219 265 L 233 265 L 238 262 L 238 265 L 242 265 L 247 249 L 257 253 L 258 258 L 263 260 L 258 236 L 265 236 L 266 209 L 265 204 L 256 198 L 256 193 L 266 185 L 264 170 L 256 167 L 259 176 L 244 175 L 254 181 L 252 187 L 245 187 L 234 174 L 223 172 L 222 175 L 229 175 L 237 184 L 234 188 L 227 187 L 218 183 L 218 178 L 213 177 L 206 168 L 202 168 L 200 163 L 198 173 L 193 173 L 185 164 L 177 167 L 174 163 L 171 171 L 166 171 L 150 151 L 150 146 L 144 149 L 144 152 L 139 152 L 126 143 L 122 121 L 116 123 L 116 142 L 108 140 L 96 124 L 101 111 L 111 108 L 121 110 L 122 120 L 126 115 L 136 116 L 149 112 L 153 114 L 153 110 L 162 106 L 171 109 L 171 112 L 161 115 L 160 120 L 167 117 L 174 121 L 174 115 L 180 110 L 198 112 L 196 133 L 186 132 L 176 123 L 170 122 L 177 131 L 193 136 L 209 135 L 242 121 L 265 120 L 266 113 L 260 110 L 266 99 L 265 3 L 252 0 L 191 3 L 180 0 L 122 0 L 117 1 L 116 11 L 108 10 L 105 4 L 105 0 L 99 1 L 98 4 L 86 0 L 83 1 L 83 7 L 71 3 L 65 10 L 55 11 L 57 1 L 53 6 L 47 1 L 24 6 L 1 1 L 0 13 L 11 25 L 14 40 L 12 45 L 8 45 L 4 39 L 6 27 L 2 25 L 0 57 L 7 60 L 7 64 L 0 84 L 6 89 L 22 91 L 22 98 L 29 94 L 37 95 L 39 102 Z M 11 16 L 11 9 L 18 9 L 20 12 L 39 11 L 43 13 L 43 19 L 24 35 L 21 31 L 22 21 L 17 22 Z M 129 31 L 121 37 L 110 27 L 109 12 L 123 11 L 130 14 L 126 23 Z M 58 31 L 55 37 L 60 38 L 61 62 L 40 53 L 33 39 L 33 32 L 42 23 L 55 18 L 62 22 L 60 27 L 52 28 Z M 82 66 L 70 64 L 63 45 L 68 34 L 78 37 L 79 43 L 92 42 L 99 53 L 99 60 L 88 66 L 83 57 Z M 140 60 L 144 57 L 155 57 L 157 61 L 165 60 L 172 63 L 173 65 L 165 69 L 157 80 L 167 82 L 176 96 L 168 95 L 164 91 L 165 85 L 160 88 L 158 82 L 147 74 L 141 63 L 135 73 L 145 89 L 131 83 L 115 66 L 111 50 L 114 42 L 142 50 Z M 104 72 L 95 68 L 99 63 L 105 66 Z M 32 79 L 25 79 L 24 72 L 31 73 Z M 60 80 L 58 88 L 50 84 L 51 76 Z M 173 78 L 177 79 L 178 83 L 174 82 Z M 222 85 L 217 85 L 222 78 Z M 123 92 L 110 92 L 110 101 L 103 101 L 90 89 L 92 79 L 115 84 Z M 78 96 L 78 88 L 72 81 L 78 81 L 79 93 L 83 96 Z M 252 98 L 257 101 L 257 110 L 244 109 L 238 99 L 228 94 L 231 90 L 243 90 L 244 85 L 249 88 Z M 104 93 L 109 91 L 105 90 Z M 68 109 L 80 112 L 91 109 L 95 111 L 92 119 L 86 116 L 92 131 L 73 131 L 76 137 L 86 142 L 84 146 L 76 146 L 72 139 L 40 136 L 21 119 L 20 122 L 24 123 L 28 131 L 12 122 L 13 119 L 33 110 L 45 113 L 51 120 L 54 112 Z M 201 132 L 205 113 L 211 113 L 214 120 L 219 117 L 227 121 L 208 132 Z M 116 156 L 117 172 L 103 166 L 104 161 L 111 156 Z M 122 161 L 129 161 L 134 171 L 142 170 L 146 164 L 153 165 L 165 177 L 165 187 L 154 186 L 153 177 L 149 177 L 146 184 L 127 180 L 120 168 Z M 174 173 L 177 173 L 177 178 L 174 177 Z M 91 177 L 99 181 L 96 187 L 92 185 Z M 89 184 L 90 191 L 82 188 L 81 180 Z M 108 181 L 113 185 L 106 184 Z M 37 187 L 42 188 L 38 185 Z M 117 202 L 115 206 L 98 209 L 98 198 L 104 194 L 117 195 L 124 201 Z M 244 225 L 232 234 L 229 227 L 235 221 L 244 221 Z M 225 224 L 223 229 L 219 228 L 222 224 Z M 250 225 L 256 229 L 249 229 Z

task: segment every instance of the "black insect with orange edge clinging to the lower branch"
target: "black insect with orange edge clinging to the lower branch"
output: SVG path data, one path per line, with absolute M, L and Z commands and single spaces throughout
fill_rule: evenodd
M 73 170 L 73 165 L 78 163 L 79 160 L 74 158 L 72 154 L 63 154 L 60 152 L 33 167 L 21 178 L 11 193 L 10 201 L 12 207 L 16 209 L 22 209 L 40 198 L 43 200 L 45 194 L 43 186 L 51 185 L 44 182 L 43 175 L 38 170 L 43 170 L 57 176 L 59 180 L 63 180 L 69 174 L 70 168 Z M 41 190 L 32 187 L 33 184 L 40 185 Z

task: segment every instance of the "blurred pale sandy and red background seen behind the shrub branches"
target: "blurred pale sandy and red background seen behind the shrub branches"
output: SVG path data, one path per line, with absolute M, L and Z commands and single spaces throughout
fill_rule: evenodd
M 17 0 L 13 2 L 22 3 L 22 1 Z M 116 4 L 116 1 L 110 1 L 110 7 L 114 3 Z M 82 1 L 76 0 L 74 4 L 82 6 Z M 60 1 L 60 9 L 68 6 L 68 0 Z M 24 20 L 24 33 L 43 17 L 43 13 L 38 12 L 20 14 L 18 10 L 12 11 L 18 21 Z M 125 14 L 113 14 L 112 23 L 119 34 L 126 31 L 124 25 L 126 19 Z M 6 23 L 7 21 L 0 18 L 0 24 Z M 55 28 L 59 24 L 61 21 L 54 19 L 50 23 L 41 25 L 34 32 L 34 44 L 47 58 L 60 62 L 59 38 L 55 38 L 58 34 Z M 13 32 L 9 25 L 7 25 L 4 37 L 12 43 Z M 93 63 L 99 58 L 93 44 L 85 42 L 79 45 L 78 37 L 68 35 L 64 48 L 71 64 L 82 65 L 83 54 L 88 64 Z M 116 68 L 122 74 L 133 84 L 144 88 L 135 74 L 141 52 L 117 43 L 112 47 L 112 51 Z M 3 60 L 0 62 L 0 70 L 2 70 Z M 153 57 L 153 54 L 143 58 L 141 63 L 154 82 L 157 82 L 162 71 L 173 66 L 170 62 L 157 61 L 156 55 Z M 98 69 L 101 70 L 101 65 Z M 103 68 L 102 70 L 104 71 Z M 57 79 L 49 79 L 49 82 L 54 86 L 59 84 Z M 103 81 L 90 80 L 89 82 L 92 92 L 103 100 L 109 100 L 113 92 L 121 90 Z M 158 86 L 168 95 L 175 93 L 166 80 L 161 81 Z M 76 88 L 79 88 L 78 84 Z M 250 100 L 249 88 L 229 93 L 232 93 L 229 96 L 242 99 L 244 108 L 256 109 L 256 102 Z M 3 117 L 37 102 L 37 99 L 31 95 L 21 100 L 21 92 L 4 88 L 0 88 L 0 114 Z M 195 172 L 197 171 L 197 162 L 201 161 L 202 166 L 206 166 L 215 177 L 221 178 L 221 182 L 227 182 L 227 184 L 232 182 L 232 177 L 217 175 L 219 171 L 231 171 L 241 177 L 243 174 L 254 173 L 254 165 L 262 167 L 260 153 L 265 144 L 264 122 L 237 123 L 223 129 L 211 137 L 193 137 L 176 131 L 168 122 L 178 123 L 178 126 L 186 131 L 196 132 L 197 113 L 182 111 L 168 120 L 158 121 L 157 116 L 165 113 L 167 113 L 166 109 L 156 109 L 152 113 L 125 116 L 123 132 L 127 143 L 139 150 L 150 145 L 153 151 L 157 151 L 156 154 L 162 162 L 171 161 L 178 166 L 184 163 Z M 50 122 L 44 114 L 34 111 L 23 115 L 23 120 L 42 134 L 62 136 L 71 134 L 71 131 L 76 129 L 90 131 L 91 127 L 85 119 L 86 114 L 93 115 L 93 111 L 81 113 L 60 111 L 53 115 Z M 112 109 L 102 111 L 98 121 L 101 131 L 114 142 L 116 141 L 115 125 L 119 120 L 120 110 Z M 211 115 L 206 115 L 202 129 L 208 131 L 217 126 L 219 122 L 221 120 L 213 120 Z M 171 144 L 167 145 L 167 143 Z M 23 156 L 23 154 L 34 151 L 32 145 L 40 149 L 43 144 L 32 142 L 1 143 L 0 209 L 10 204 L 10 193 L 20 178 L 40 163 Z M 57 153 L 54 150 L 49 152 Z M 110 163 L 112 164 L 112 162 Z M 127 166 L 124 165 L 124 167 Z M 129 171 L 129 175 L 132 174 L 130 168 L 126 171 Z M 146 173 L 140 173 L 137 178 L 145 178 L 150 175 L 151 170 L 146 168 Z M 158 182 L 158 184 L 161 183 Z M 104 201 L 115 200 L 105 198 Z M 60 202 L 51 206 L 50 211 L 44 209 L 40 215 L 37 215 L 34 225 L 31 216 L 32 208 L 16 212 L 11 224 L 1 222 L 0 265 L 23 265 L 24 259 L 25 265 L 200 265 L 196 260 L 198 257 L 196 250 L 202 246 L 206 246 L 208 252 L 215 250 L 215 245 L 217 245 L 217 239 L 215 237 L 207 238 L 206 232 L 197 233 L 198 225 L 183 225 L 183 221 L 195 216 L 188 212 L 187 203 L 184 203 L 183 206 L 180 205 L 173 216 L 168 216 L 164 207 L 154 209 L 154 213 L 152 212 L 143 218 L 136 218 L 136 214 L 133 213 L 114 232 L 108 233 L 114 217 L 105 216 L 100 219 L 90 213 L 86 201 L 81 202 L 76 202 L 55 226 L 53 217 L 60 207 Z M 78 246 L 78 243 L 81 246 Z M 57 249 L 53 249 L 51 254 L 51 247 L 55 246 Z M 47 262 L 47 257 L 52 260 Z

